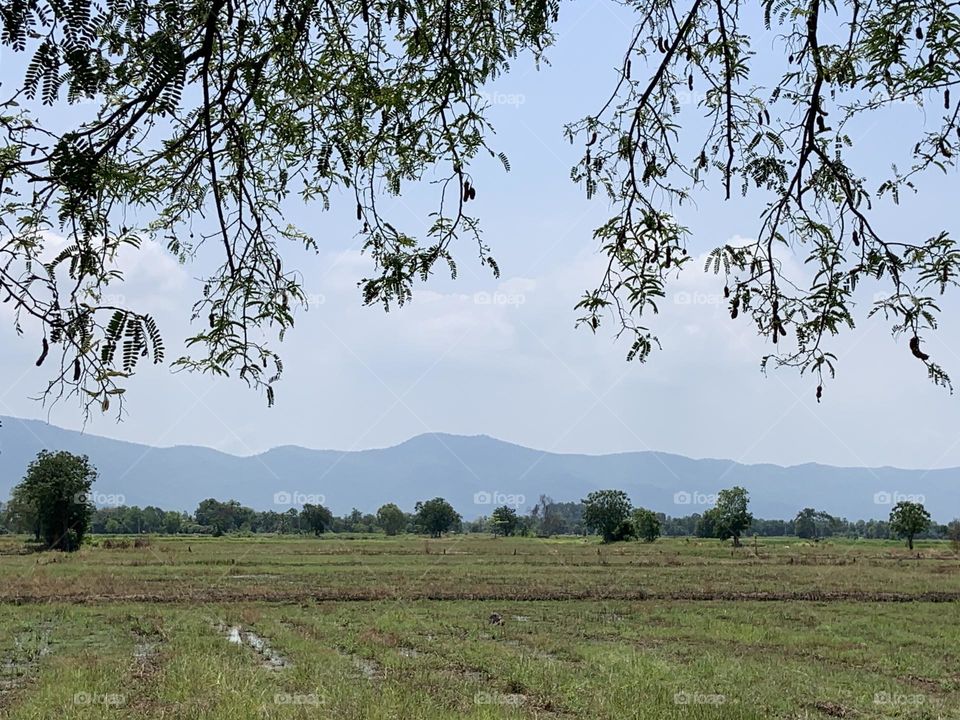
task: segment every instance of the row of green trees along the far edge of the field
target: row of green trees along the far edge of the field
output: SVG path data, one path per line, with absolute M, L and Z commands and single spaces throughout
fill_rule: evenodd
M 464 520 L 440 497 L 416 503 L 412 512 L 387 503 L 376 513 L 354 508 L 342 516 L 319 504 L 307 503 L 282 512 L 259 511 L 236 500 L 215 498 L 203 500 L 192 513 L 156 506 L 95 507 L 91 491 L 96 477 L 96 469 L 85 456 L 41 452 L 14 488 L 10 500 L 0 503 L 0 534 L 29 533 L 37 542 L 61 550 L 77 549 L 88 533 L 419 533 L 431 537 L 446 533 L 528 537 L 595 534 L 604 542 L 653 542 L 660 536 L 695 536 L 730 540 L 735 546 L 750 534 L 809 540 L 902 537 L 911 548 L 914 539 L 949 538 L 960 542 L 960 520 L 948 525 L 933 523 L 920 503 L 898 503 L 887 520 L 850 521 L 814 508 L 803 508 L 789 520 L 765 520 L 753 517 L 749 494 L 741 487 L 720 491 L 713 507 L 683 517 L 634 508 L 622 490 L 600 490 L 579 502 L 555 502 L 541 495 L 526 514 L 504 505 L 489 516 Z

